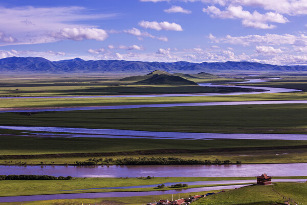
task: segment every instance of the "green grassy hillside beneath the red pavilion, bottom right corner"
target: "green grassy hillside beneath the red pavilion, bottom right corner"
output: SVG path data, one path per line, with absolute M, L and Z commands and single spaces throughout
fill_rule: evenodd
M 284 204 L 282 197 L 293 199 L 296 203 L 307 203 L 307 183 L 278 182 L 273 186 L 249 186 L 224 193 L 211 195 L 193 202 L 193 205 L 215 204 Z M 291 204 L 295 204 L 291 202 Z

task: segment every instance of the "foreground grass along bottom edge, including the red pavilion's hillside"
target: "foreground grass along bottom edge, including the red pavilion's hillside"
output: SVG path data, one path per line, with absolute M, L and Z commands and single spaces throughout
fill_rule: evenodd
M 278 182 L 273 186 L 250 186 L 229 190 L 207 196 L 192 203 L 192 205 L 278 205 L 284 204 L 282 197 L 291 198 L 298 204 L 306 203 L 307 183 Z M 204 194 L 208 192 L 219 192 L 222 190 L 173 194 L 174 199 L 186 198 L 190 195 Z M 113 198 L 93 198 L 93 199 L 60 199 L 48 201 L 24 202 L 27 205 L 141 205 L 160 199 L 170 200 L 172 195 L 153 195 L 140 197 L 113 197 Z M 0 203 L 1 205 L 19 205 L 20 202 Z M 291 202 L 291 204 L 295 204 Z

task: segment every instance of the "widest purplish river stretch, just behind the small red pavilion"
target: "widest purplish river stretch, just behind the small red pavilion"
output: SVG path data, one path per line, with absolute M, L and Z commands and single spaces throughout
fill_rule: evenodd
M 174 171 L 176 170 L 176 171 Z M 148 166 L 0 166 L 0 175 L 35 174 L 73 177 L 234 177 L 307 176 L 307 163 L 255 165 L 148 165 Z

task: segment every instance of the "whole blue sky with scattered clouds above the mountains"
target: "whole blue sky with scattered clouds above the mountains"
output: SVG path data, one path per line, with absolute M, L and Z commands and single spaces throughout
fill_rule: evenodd
M 307 64 L 306 0 L 0 2 L 0 58 Z

